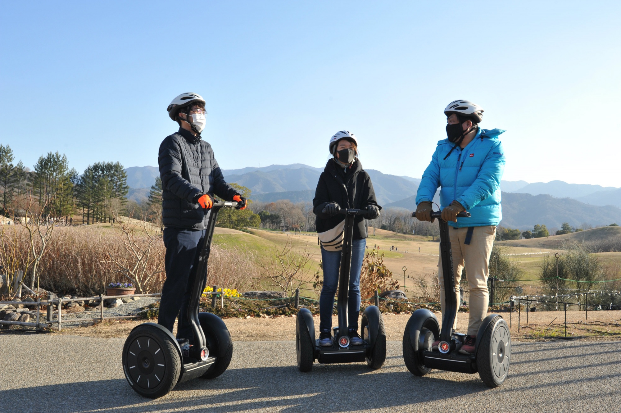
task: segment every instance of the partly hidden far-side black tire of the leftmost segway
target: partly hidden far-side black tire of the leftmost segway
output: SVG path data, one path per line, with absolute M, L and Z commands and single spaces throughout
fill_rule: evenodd
M 224 321 L 211 312 L 199 312 L 201 329 L 207 340 L 209 355 L 217 357 L 215 363 L 209 367 L 201 378 L 215 379 L 224 373 L 233 358 L 233 339 Z

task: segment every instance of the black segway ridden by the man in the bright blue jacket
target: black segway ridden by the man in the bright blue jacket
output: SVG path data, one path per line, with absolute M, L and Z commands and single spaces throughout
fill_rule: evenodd
M 498 387 L 509 373 L 511 361 L 509 327 L 500 315 L 489 314 L 476 334 L 474 355 L 464 355 L 458 352 L 465 342 L 466 335 L 453 331 L 453 322 L 458 309 L 448 224 L 442 220 L 439 211 L 432 212 L 431 216 L 440 222 L 445 317 L 443 317 L 442 330 L 440 330 L 438 319 L 433 312 L 418 309 L 412 314 L 403 334 L 403 358 L 407 370 L 416 376 L 424 376 L 432 368 L 470 374 L 478 372 L 483 383 L 491 388 Z M 469 212 L 458 214 L 458 217 L 469 216 Z M 438 337 L 440 338 L 438 350 L 432 350 L 432 343 L 438 340 Z

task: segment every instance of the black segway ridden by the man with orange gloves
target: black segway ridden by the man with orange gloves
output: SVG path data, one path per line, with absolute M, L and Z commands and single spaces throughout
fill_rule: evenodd
M 123 346 L 123 371 L 132 389 L 141 396 L 161 397 L 175 384 L 197 377 L 212 379 L 224 373 L 233 355 L 233 341 L 224 321 L 215 314 L 198 312 L 215 219 L 223 207 L 237 202 L 216 201 L 207 219 L 207 231 L 188 306 L 194 345 L 176 339 L 166 327 L 143 323 L 132 330 Z

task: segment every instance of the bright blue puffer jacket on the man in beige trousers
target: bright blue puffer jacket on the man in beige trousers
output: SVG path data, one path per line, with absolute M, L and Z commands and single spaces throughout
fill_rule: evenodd
M 498 139 L 502 132 L 502 129 L 479 129 L 472 142 L 463 149 L 456 147 L 453 152 L 454 143 L 440 140 L 420 180 L 416 204 L 432 201 L 440 186 L 440 208 L 456 200 L 472 215 L 448 225 L 458 228 L 498 225 L 502 219 L 501 178 L 505 164 Z

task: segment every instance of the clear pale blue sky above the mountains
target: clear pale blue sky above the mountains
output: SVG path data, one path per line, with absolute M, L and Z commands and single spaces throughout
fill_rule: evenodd
M 207 101 L 225 169 L 322 166 L 348 129 L 365 168 L 420 177 L 454 99 L 506 129 L 504 179 L 621 186 L 621 2 L 2 2 L 0 143 L 157 164 L 166 106 Z

